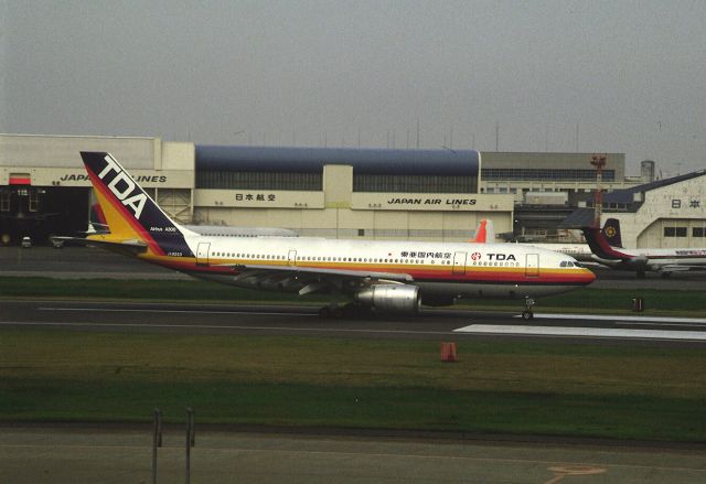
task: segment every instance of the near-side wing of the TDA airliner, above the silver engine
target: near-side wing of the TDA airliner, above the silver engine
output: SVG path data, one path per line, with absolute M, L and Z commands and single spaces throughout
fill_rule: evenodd
M 345 292 L 346 289 L 375 284 L 377 281 L 386 283 L 405 283 L 414 281 L 408 273 L 378 272 L 362 270 L 323 269 L 296 266 L 265 266 L 265 265 L 223 265 L 238 271 L 235 280 L 257 288 L 297 290 L 300 295 L 313 292 L 330 292 L 331 290 Z

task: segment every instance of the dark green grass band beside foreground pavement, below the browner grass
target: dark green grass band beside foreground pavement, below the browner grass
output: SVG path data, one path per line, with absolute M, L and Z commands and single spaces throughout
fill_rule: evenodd
M 703 442 L 704 401 L 296 384 L 12 380 L 3 420 L 147 422 L 196 410 L 204 423 L 437 430 Z M 49 399 L 49 402 L 46 404 Z M 44 402 L 44 404 L 42 404 Z M 659 416 L 659 417 L 656 417 Z

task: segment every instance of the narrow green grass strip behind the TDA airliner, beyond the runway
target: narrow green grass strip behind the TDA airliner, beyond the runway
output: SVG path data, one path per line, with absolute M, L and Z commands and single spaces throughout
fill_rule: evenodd
M 280 292 L 255 291 L 207 281 L 51 279 L 0 277 L 0 295 L 4 298 L 96 298 L 141 301 L 282 302 L 320 303 L 325 295 L 299 297 Z M 693 313 L 706 310 L 706 292 L 661 289 L 581 288 L 566 294 L 542 298 L 539 308 L 561 310 L 630 311 L 632 299 L 642 297 L 648 313 Z M 518 301 L 463 300 L 473 308 L 509 308 L 517 311 Z M 521 305 L 521 304 L 520 304 Z

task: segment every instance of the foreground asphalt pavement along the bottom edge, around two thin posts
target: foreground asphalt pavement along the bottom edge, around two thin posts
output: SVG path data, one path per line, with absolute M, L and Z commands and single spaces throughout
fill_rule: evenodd
M 202 430 L 192 483 L 703 483 L 703 447 L 634 447 Z M 157 453 L 157 482 L 186 480 L 185 430 Z M 0 427 L 0 482 L 152 482 L 148 426 Z

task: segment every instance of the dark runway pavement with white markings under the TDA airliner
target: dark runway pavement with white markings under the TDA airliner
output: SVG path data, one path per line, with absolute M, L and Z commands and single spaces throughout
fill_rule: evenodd
M 706 319 L 425 310 L 386 319 L 321 319 L 318 308 L 99 301 L 0 301 L 0 327 L 182 334 L 277 334 L 389 338 L 561 338 L 703 346 Z

